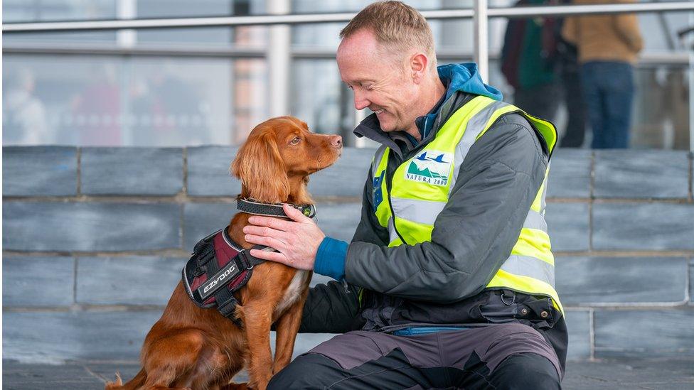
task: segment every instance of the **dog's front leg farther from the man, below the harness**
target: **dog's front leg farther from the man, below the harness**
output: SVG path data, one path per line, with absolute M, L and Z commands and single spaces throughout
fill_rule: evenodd
M 248 342 L 248 386 L 265 390 L 272 377 L 272 350 L 270 350 L 270 325 L 272 302 L 255 301 L 237 307 L 243 321 Z

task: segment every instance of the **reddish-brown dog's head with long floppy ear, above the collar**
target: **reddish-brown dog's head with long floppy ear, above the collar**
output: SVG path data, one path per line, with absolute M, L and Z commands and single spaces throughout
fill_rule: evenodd
M 277 117 L 255 126 L 231 163 L 242 197 L 287 202 L 303 190 L 308 175 L 331 166 L 341 155 L 342 137 L 313 134 L 303 121 Z M 301 188 L 292 188 L 300 183 Z M 296 185 L 294 185 L 296 187 Z

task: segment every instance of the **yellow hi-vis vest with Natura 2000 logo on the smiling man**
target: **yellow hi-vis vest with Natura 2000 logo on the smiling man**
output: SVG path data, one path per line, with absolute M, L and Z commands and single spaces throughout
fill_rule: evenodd
M 461 163 L 472 144 L 503 114 L 518 112 L 538 129 L 550 154 L 557 130 L 549 121 L 532 117 L 518 107 L 478 96 L 459 108 L 439 129 L 433 141 L 397 167 L 392 185 L 384 183 L 390 148 L 381 146 L 373 158 L 375 215 L 388 229 L 390 244 L 415 245 L 432 240 L 434 221 L 448 202 Z M 506 288 L 535 296 L 549 296 L 563 308 L 554 288 L 554 256 L 545 222 L 547 173 L 525 217 L 511 256 L 486 288 Z M 388 191 L 390 190 L 390 193 Z M 461 232 L 465 234 L 465 232 Z

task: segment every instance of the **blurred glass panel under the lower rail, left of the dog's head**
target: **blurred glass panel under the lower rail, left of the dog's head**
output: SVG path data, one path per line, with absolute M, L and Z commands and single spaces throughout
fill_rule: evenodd
M 267 117 L 264 60 L 6 55 L 3 143 L 235 144 Z

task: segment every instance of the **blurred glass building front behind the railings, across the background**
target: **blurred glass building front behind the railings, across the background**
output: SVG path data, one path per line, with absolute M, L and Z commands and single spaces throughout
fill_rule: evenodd
M 357 12 L 371 2 L 286 1 L 292 13 Z M 471 9 L 474 0 L 407 3 L 422 11 Z M 490 7 L 515 3 L 489 0 Z M 2 6 L 6 23 L 267 13 L 267 0 L 6 0 Z M 634 147 L 687 147 L 692 65 L 682 60 L 666 64 L 654 58 L 673 54 L 684 58 L 691 50 L 691 39 L 680 40 L 676 33 L 693 22 L 685 12 L 639 13 L 645 49 L 635 74 Z M 471 20 L 430 24 L 440 64 L 471 60 Z M 505 18 L 489 21 L 489 83 L 513 102 L 513 88 L 501 75 L 498 60 L 506 24 Z M 288 112 L 315 131 L 339 132 L 347 145 L 363 145 L 353 139 L 351 131 L 359 117 L 370 113 L 355 112 L 352 93 L 341 83 L 334 60 L 338 33 L 344 25 L 311 23 L 289 28 Z M 268 31 L 267 26 L 242 26 L 4 34 L 3 141 L 142 146 L 240 143 L 270 112 L 267 102 L 274 89 L 268 82 L 265 61 L 270 49 Z M 125 54 L 50 53 L 80 44 L 87 49 L 124 50 Z M 47 53 L 12 51 L 23 45 L 36 45 Z M 129 53 L 129 48 L 135 51 Z M 235 50 L 243 55 L 233 57 Z M 560 133 L 566 112 L 565 107 L 560 108 L 554 118 Z

